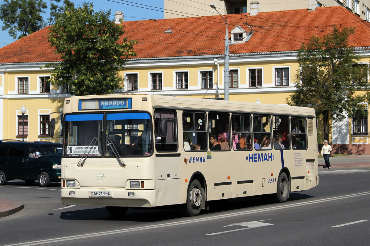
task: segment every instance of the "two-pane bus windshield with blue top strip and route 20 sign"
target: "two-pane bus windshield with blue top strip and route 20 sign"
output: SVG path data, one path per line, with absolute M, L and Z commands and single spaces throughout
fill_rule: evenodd
M 66 115 L 65 131 L 66 156 L 149 156 L 153 152 L 151 120 L 144 112 Z

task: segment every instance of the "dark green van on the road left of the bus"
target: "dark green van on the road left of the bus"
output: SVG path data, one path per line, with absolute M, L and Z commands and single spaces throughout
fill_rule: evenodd
M 42 187 L 60 182 L 61 158 L 61 143 L 0 140 L 0 186 L 13 179 Z

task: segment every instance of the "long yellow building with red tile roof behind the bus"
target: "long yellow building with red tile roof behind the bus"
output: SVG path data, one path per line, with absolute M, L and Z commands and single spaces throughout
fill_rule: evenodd
M 225 15 L 230 45 L 229 100 L 286 104 L 295 90 L 297 50 L 312 35 L 332 25 L 356 27 L 349 38 L 369 63 L 370 24 L 343 7 Z M 225 21 L 219 15 L 124 22 L 136 57 L 119 74 L 124 94 L 161 94 L 196 98 L 225 97 Z M 171 32 L 170 32 L 171 30 Z M 47 41 L 48 27 L 0 49 L 0 139 L 50 140 L 49 114 L 63 110 L 68 87 L 48 82 L 45 64 L 60 60 Z M 358 125 L 360 123 L 360 125 Z M 329 142 L 369 143 L 367 119 L 333 122 Z M 358 132 L 361 131 L 361 132 Z M 60 141 L 60 140 L 52 140 Z M 369 148 L 370 151 L 370 148 Z

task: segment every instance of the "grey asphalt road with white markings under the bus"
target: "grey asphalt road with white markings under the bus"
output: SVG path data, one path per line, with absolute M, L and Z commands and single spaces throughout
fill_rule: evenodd
M 25 208 L 0 219 L 0 246 L 369 245 L 370 168 L 320 169 L 319 176 L 319 186 L 290 193 L 284 204 L 234 199 L 197 217 L 161 208 L 115 218 L 104 207 L 65 207 L 59 184 L 9 181 L 0 197 Z

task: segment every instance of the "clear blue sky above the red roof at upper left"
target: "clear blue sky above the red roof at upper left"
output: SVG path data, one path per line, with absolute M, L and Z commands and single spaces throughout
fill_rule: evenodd
M 46 3 L 49 1 L 44 0 Z M 75 7 L 81 5 L 86 1 L 83 0 L 72 0 Z M 124 13 L 125 21 L 134 21 L 134 20 L 145 20 L 145 19 L 163 19 L 164 13 L 163 5 L 164 0 L 90 0 L 94 5 L 94 11 L 108 11 L 111 10 L 111 20 L 114 19 L 114 13 L 116 11 L 122 11 Z M 0 4 L 3 4 L 4 1 L 0 0 Z M 142 5 L 140 5 L 142 4 Z M 157 7 L 157 8 L 155 8 Z M 160 11 L 156 11 L 160 10 Z M 46 10 L 47 11 L 47 10 Z M 49 12 L 43 14 L 44 20 L 49 16 Z M 3 26 L 3 22 L 0 21 L 0 27 Z M 19 35 L 19 34 L 18 34 Z M 8 31 L 2 31 L 0 28 L 0 48 L 16 41 L 9 36 Z

